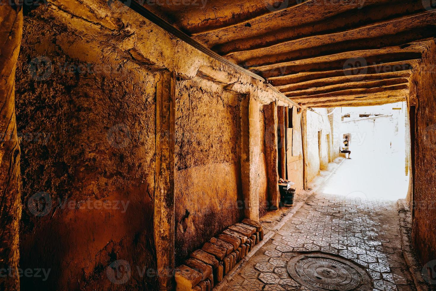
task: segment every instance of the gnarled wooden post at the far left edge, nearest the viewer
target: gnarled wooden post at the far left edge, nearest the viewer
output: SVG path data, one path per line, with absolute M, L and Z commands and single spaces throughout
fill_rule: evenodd
M 12 269 L 12 276 L 0 277 L 0 289 L 15 291 L 20 290 L 20 277 L 16 273 L 20 258 L 21 181 L 15 120 L 15 69 L 23 33 L 21 7 L 11 7 L 7 1 L 2 1 L 0 22 L 0 269 Z

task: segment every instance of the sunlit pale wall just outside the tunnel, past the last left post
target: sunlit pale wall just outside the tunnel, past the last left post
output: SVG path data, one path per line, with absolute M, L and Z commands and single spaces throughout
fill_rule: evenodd
M 324 108 L 317 108 L 317 112 L 327 114 Z M 318 131 L 321 131 L 321 155 L 318 150 Z M 311 111 L 307 112 L 307 181 L 312 181 L 320 169 L 328 165 L 327 137 L 331 136 L 330 122 L 327 116 L 321 116 Z

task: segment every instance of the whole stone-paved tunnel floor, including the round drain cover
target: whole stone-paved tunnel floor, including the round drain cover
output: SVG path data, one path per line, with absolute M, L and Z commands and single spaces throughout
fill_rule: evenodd
M 416 290 L 398 223 L 395 202 L 316 194 L 221 290 Z

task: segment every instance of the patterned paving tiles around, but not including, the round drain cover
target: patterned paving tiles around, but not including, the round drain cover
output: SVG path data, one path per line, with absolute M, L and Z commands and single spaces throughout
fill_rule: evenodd
M 251 265 L 239 270 L 238 279 L 228 283 L 229 289 L 223 290 L 311 291 L 294 281 L 286 267 L 301 252 L 313 251 L 339 255 L 367 268 L 373 291 L 414 290 L 410 274 L 403 273 L 406 267 L 398 240 L 393 202 L 318 194 L 250 259 Z

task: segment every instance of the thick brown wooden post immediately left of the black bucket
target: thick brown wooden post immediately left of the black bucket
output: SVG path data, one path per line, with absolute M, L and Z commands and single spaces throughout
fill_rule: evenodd
M 275 102 L 263 106 L 265 115 L 265 156 L 268 202 L 270 209 L 279 208 L 277 106 Z

